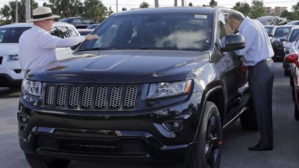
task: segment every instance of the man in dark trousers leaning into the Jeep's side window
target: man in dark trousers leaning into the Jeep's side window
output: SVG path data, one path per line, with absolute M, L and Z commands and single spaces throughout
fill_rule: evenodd
M 253 102 L 253 109 L 257 117 L 257 127 L 260 131 L 260 140 L 251 151 L 273 149 L 272 124 L 272 88 L 275 66 L 271 59 L 274 52 L 268 34 L 262 24 L 238 12 L 230 12 L 226 23 L 235 33 L 243 35 L 246 47 L 237 50 L 243 55 L 242 62 L 248 67 L 248 82 Z

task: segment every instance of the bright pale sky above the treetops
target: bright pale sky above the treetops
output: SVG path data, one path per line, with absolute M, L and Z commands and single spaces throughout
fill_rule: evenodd
M 0 8 L 2 8 L 5 4 L 7 4 L 9 1 L 15 1 L 15 0 L 0 0 Z M 48 2 L 44 0 L 35 0 L 39 3 L 39 6 L 42 6 L 42 3 Z M 84 1 L 84 0 L 81 0 Z M 111 9 L 116 12 L 116 1 L 118 2 L 118 11 L 121 11 L 122 8 L 127 8 L 127 10 L 132 8 L 138 8 L 139 5 L 145 1 L 149 3 L 149 7 L 154 7 L 154 0 L 101 0 L 102 3 L 109 8 L 111 6 Z M 181 6 L 181 0 L 178 1 L 178 6 Z M 203 4 L 208 5 L 210 0 L 184 0 L 185 6 L 188 6 L 188 3 L 192 3 L 193 6 L 202 6 Z M 215 0 L 217 1 L 217 0 Z M 224 6 L 227 8 L 233 8 L 235 6 L 235 3 L 237 1 L 242 1 L 251 4 L 251 0 L 218 0 L 218 6 Z M 264 0 L 264 6 L 266 7 L 272 7 L 275 6 L 287 6 L 287 10 L 291 11 L 291 6 L 296 5 L 298 3 L 298 0 Z M 159 6 L 160 7 L 167 7 L 167 6 L 174 6 L 174 0 L 159 0 Z

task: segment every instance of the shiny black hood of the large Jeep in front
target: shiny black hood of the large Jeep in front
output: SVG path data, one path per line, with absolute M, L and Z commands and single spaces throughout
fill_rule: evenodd
M 31 80 L 59 83 L 154 83 L 183 80 L 208 53 L 170 50 L 79 52 L 31 71 Z

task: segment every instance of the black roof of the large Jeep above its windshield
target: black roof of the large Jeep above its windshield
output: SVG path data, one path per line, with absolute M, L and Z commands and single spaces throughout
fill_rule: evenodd
M 163 8 L 138 8 L 134 10 L 126 10 L 123 12 L 117 12 L 114 16 L 122 16 L 122 15 L 143 15 L 143 14 L 206 14 L 210 15 L 215 8 L 210 7 L 163 7 Z

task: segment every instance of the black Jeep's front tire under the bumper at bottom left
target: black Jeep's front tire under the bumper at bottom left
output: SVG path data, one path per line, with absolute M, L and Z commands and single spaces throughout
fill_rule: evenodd
M 69 165 L 71 160 L 47 159 L 43 160 L 35 155 L 25 153 L 26 160 L 33 168 L 64 168 Z

